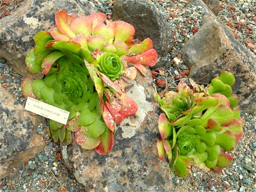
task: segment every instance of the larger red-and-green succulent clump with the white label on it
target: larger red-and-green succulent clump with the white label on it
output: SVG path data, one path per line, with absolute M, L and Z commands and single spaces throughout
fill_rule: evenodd
M 26 56 L 28 71 L 44 78 L 26 77 L 22 91 L 70 112 L 67 125 L 49 120 L 54 141 L 68 144 L 76 132 L 82 148 L 107 154 L 116 125 L 138 109 L 122 76 L 135 79 L 137 69 L 145 75 L 143 65 L 154 66 L 157 52 L 150 38 L 134 40 L 131 24 L 105 20 L 104 13 L 77 18 L 62 10 L 55 20 L 56 26 L 35 35 Z

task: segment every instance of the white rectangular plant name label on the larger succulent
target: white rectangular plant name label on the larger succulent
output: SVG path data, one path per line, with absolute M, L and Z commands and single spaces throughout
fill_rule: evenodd
M 25 109 L 44 116 L 61 124 L 67 124 L 69 112 L 60 108 L 56 108 L 40 100 L 28 97 Z

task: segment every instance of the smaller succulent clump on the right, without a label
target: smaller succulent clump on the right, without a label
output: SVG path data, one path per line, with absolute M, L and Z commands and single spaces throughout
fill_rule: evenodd
M 164 112 L 159 116 L 159 158 L 166 154 L 171 170 L 180 177 L 189 174 L 191 162 L 216 172 L 232 163 L 227 152 L 241 140 L 244 124 L 237 96 L 232 95 L 234 81 L 230 72 L 221 72 L 204 92 L 194 92 L 180 81 L 178 92 L 156 95 Z

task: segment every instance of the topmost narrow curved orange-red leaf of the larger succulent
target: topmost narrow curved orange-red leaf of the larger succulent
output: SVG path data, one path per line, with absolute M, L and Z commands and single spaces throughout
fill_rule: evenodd
M 68 14 L 64 10 L 55 13 L 55 22 L 58 30 L 65 36 L 72 38 L 76 36 L 76 33 L 70 28 L 68 24 Z

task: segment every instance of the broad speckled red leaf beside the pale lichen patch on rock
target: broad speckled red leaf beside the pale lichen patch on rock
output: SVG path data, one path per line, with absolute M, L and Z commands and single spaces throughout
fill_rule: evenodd
M 138 111 L 138 105 L 126 93 L 116 96 L 120 99 L 120 104 L 122 106 L 118 113 L 120 113 L 123 118 L 134 115 Z

